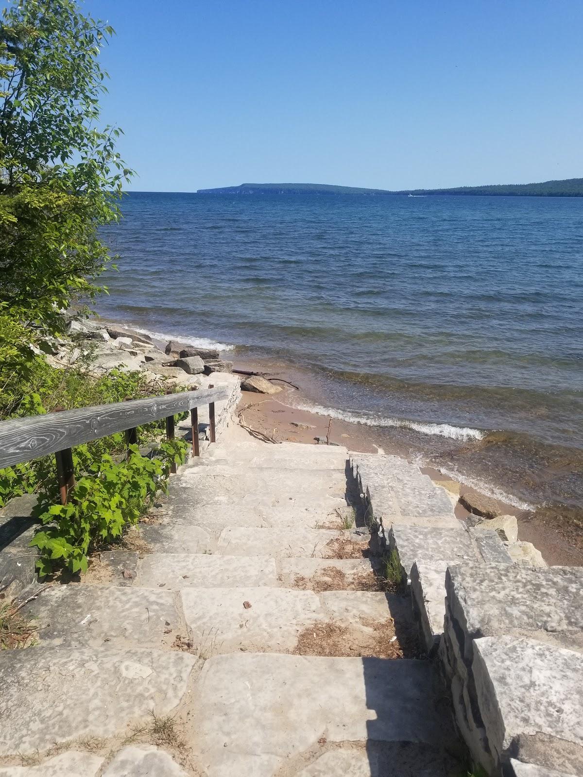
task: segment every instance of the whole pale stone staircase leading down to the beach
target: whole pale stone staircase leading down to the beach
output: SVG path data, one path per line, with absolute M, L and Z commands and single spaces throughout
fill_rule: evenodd
M 347 461 L 231 426 L 172 479 L 139 550 L 30 601 L 37 645 L 0 654 L 0 777 L 463 774 Z M 424 488 L 431 509 L 404 480 L 393 507 L 429 521 L 445 507 Z M 438 517 L 456 531 L 451 505 Z

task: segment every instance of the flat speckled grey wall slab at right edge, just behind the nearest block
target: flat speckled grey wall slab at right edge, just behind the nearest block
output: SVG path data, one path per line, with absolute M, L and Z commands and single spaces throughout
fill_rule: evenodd
M 463 564 L 450 566 L 445 587 L 452 618 L 472 639 L 532 636 L 583 651 L 581 567 Z

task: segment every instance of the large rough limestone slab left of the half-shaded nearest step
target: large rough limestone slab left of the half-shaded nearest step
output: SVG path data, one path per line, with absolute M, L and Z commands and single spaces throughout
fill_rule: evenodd
M 0 756 L 110 737 L 178 705 L 197 659 L 162 650 L 33 647 L 0 653 Z

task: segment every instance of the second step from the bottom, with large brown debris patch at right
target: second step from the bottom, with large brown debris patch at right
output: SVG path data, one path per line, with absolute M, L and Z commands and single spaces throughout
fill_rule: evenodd
M 396 631 L 410 618 L 407 598 L 382 592 L 239 587 L 180 594 L 190 641 L 204 658 L 241 650 L 398 657 Z

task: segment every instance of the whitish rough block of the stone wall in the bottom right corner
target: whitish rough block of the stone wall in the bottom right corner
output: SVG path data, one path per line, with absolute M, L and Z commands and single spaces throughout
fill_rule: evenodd
M 497 764 L 510 756 L 583 771 L 583 656 L 535 639 L 474 642 L 476 699 Z

